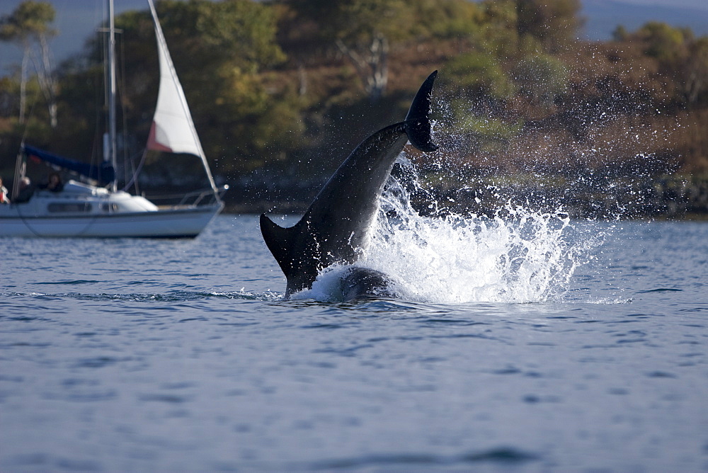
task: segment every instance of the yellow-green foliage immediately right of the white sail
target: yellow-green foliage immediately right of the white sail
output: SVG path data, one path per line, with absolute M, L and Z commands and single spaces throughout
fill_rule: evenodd
M 267 84 L 265 71 L 285 55 L 275 42 L 273 8 L 255 1 L 169 1 L 160 4 L 173 51 L 216 170 L 262 166 L 278 147 L 292 149 L 302 127 L 292 90 Z M 208 71 L 208 74 L 205 74 Z M 270 90 L 278 89 L 278 90 Z

